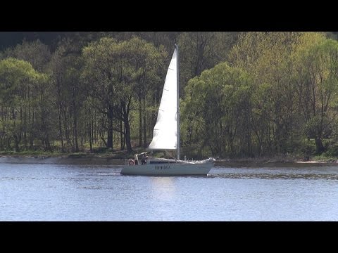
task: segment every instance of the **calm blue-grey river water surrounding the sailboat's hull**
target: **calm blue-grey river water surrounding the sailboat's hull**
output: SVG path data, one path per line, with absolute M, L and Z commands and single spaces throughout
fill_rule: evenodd
M 121 176 L 116 163 L 0 157 L 0 221 L 338 221 L 338 164 L 162 177 Z

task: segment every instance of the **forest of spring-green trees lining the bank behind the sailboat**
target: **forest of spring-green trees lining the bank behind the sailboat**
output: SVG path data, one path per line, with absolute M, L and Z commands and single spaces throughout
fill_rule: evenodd
M 0 154 L 146 149 L 177 43 L 182 155 L 338 157 L 337 32 L 10 35 Z

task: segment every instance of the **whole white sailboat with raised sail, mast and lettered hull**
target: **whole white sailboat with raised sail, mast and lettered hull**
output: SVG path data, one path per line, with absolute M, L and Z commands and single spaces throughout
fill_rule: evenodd
M 149 152 L 134 155 L 126 160 L 120 174 L 123 175 L 208 175 L 215 163 L 213 157 L 206 160 L 180 160 L 180 100 L 178 45 L 168 67 L 157 122 L 149 150 L 177 150 L 176 159 L 148 157 Z

